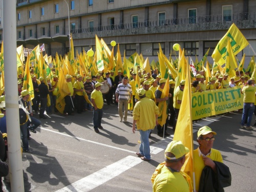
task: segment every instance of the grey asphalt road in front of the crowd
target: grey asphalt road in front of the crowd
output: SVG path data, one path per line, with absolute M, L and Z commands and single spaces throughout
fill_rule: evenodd
M 119 122 L 117 105 L 104 105 L 103 113 L 99 134 L 93 130 L 91 111 L 42 119 L 29 140 L 33 153 L 23 153 L 25 191 L 152 191 L 151 176 L 164 161 L 173 136 L 162 139 L 154 130 L 152 161 L 144 162 L 135 154 L 140 138 L 138 132 L 132 133 L 132 116 L 127 123 Z M 240 120 L 241 113 L 233 112 L 194 123 L 194 148 L 196 131 L 210 126 L 217 132 L 214 148 L 221 151 L 232 174 L 232 185 L 225 191 L 256 191 L 256 128 L 240 129 Z

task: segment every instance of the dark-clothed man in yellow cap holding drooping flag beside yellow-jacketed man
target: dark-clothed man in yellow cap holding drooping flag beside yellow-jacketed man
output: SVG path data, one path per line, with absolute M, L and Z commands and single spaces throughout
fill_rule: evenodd
M 171 94 L 169 94 L 168 97 L 161 98 L 163 88 L 164 88 L 165 83 L 166 83 L 166 79 L 160 79 L 159 83 L 160 83 L 160 85 L 159 85 L 159 87 L 157 88 L 157 90 L 155 92 L 157 105 L 158 105 L 159 102 L 165 102 L 166 100 L 168 100 L 169 97 L 172 96 Z M 166 123 L 163 126 L 161 126 L 159 124 L 157 125 L 157 135 L 158 136 L 163 137 L 163 134 L 165 136 L 170 136 L 170 134 L 167 133 L 167 125 L 168 125 L 168 114 L 167 114 L 167 118 L 166 118 Z

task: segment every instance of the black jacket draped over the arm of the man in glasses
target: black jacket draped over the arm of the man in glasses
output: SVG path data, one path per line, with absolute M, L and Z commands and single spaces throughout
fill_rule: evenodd
M 214 161 L 217 173 L 209 166 L 205 166 L 200 177 L 198 192 L 224 191 L 224 187 L 231 185 L 231 173 L 224 163 Z

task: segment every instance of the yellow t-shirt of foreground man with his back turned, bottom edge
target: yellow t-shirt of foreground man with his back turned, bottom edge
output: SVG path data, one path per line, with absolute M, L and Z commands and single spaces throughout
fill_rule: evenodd
M 165 162 L 159 164 L 152 176 L 153 192 L 188 192 L 193 191 L 190 177 L 180 171 L 172 172 Z

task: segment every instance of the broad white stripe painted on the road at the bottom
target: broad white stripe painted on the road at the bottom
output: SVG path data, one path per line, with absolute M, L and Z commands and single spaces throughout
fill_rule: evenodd
M 127 156 L 87 177 L 84 177 L 62 189 L 57 190 L 56 192 L 90 191 L 141 162 L 142 160 L 138 157 Z

